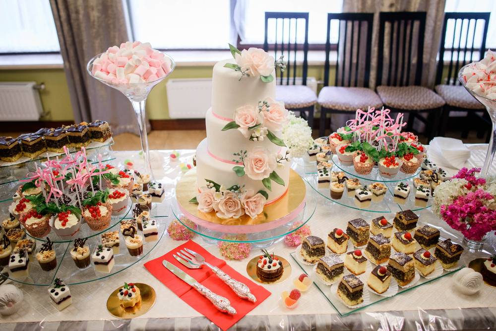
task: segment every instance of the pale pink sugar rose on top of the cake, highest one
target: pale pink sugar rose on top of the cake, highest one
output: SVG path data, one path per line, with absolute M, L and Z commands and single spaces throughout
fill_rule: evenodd
M 274 58 L 260 48 L 250 47 L 236 53 L 236 63 L 250 76 L 268 76 L 274 71 Z

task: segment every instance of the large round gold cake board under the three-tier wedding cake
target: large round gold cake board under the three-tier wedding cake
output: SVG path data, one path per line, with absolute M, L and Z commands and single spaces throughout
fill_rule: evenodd
M 222 225 L 260 225 L 289 215 L 305 201 L 307 187 L 296 171 L 290 169 L 289 185 L 286 194 L 279 200 L 266 205 L 256 218 L 243 215 L 240 218 L 222 219 L 215 212 L 204 213 L 198 210 L 198 204 L 189 202 L 198 194 L 196 187 L 196 169 L 191 169 L 179 180 L 176 186 L 176 198 L 179 205 L 189 214 L 201 220 Z

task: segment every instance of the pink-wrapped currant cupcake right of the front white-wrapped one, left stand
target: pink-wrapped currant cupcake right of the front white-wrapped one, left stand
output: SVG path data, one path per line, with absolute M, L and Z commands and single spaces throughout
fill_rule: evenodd
M 89 194 L 83 201 L 82 215 L 92 230 L 101 230 L 109 226 L 112 217 L 112 204 L 108 202 L 109 190 Z

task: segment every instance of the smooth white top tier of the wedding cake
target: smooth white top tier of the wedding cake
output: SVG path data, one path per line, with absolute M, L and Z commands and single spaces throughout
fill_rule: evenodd
M 276 81 L 262 83 L 259 76 L 244 76 L 225 64 L 235 64 L 234 59 L 215 64 L 212 74 L 212 112 L 220 117 L 232 119 L 234 111 L 245 105 L 256 106 L 259 100 L 275 99 Z M 275 70 L 272 76 L 276 76 Z

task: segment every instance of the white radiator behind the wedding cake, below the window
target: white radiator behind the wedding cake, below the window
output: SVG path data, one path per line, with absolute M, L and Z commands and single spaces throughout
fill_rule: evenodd
M 296 83 L 302 79 L 297 77 Z M 307 86 L 315 93 L 317 80 L 307 77 Z M 205 113 L 212 103 L 211 78 L 178 78 L 167 81 L 167 102 L 171 119 L 205 118 Z

